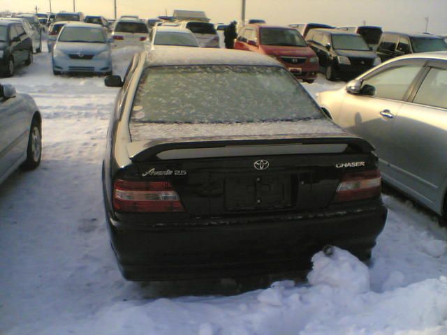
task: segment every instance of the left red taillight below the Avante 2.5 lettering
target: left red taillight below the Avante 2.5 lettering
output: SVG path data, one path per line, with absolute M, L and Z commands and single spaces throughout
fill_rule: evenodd
M 169 181 L 129 181 L 113 184 L 113 207 L 117 211 L 173 213 L 184 211 Z

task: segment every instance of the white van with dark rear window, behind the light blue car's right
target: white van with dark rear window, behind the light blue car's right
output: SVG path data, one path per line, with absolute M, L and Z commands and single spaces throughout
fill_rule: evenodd
M 113 27 L 112 38 L 115 47 L 142 45 L 149 40 L 149 29 L 141 20 L 120 19 Z

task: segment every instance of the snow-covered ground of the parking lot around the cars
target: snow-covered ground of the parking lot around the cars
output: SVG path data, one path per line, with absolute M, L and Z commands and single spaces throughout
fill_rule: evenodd
M 130 55 L 114 51 L 115 73 Z M 244 293 L 231 281 L 126 282 L 100 178 L 117 89 L 99 77 L 54 77 L 45 52 L 0 82 L 43 113 L 41 167 L 0 185 L 0 334 L 447 334 L 447 232 L 393 195 L 369 268 L 335 248 L 314 255 L 308 281 Z M 342 85 L 320 77 L 306 87 Z

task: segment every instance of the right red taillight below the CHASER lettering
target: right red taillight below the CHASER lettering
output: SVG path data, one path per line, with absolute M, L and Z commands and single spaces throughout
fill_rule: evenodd
M 333 202 L 376 198 L 381 193 L 379 170 L 349 172 L 343 175 Z

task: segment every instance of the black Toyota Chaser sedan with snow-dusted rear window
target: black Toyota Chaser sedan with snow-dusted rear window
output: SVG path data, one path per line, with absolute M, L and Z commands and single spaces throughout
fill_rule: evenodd
M 270 57 L 135 55 L 108 129 L 106 218 L 129 280 L 302 269 L 326 245 L 370 258 L 386 221 L 368 142 Z

